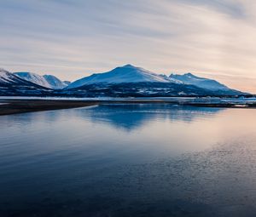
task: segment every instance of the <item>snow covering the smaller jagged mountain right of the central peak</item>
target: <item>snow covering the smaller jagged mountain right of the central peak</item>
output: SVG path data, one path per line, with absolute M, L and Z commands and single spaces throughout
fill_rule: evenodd
M 186 73 L 183 75 L 171 74 L 170 77 L 172 79 L 176 79 L 180 82 L 186 84 L 192 84 L 202 89 L 210 89 L 210 90 L 226 90 L 229 89 L 222 83 L 218 83 L 213 79 L 208 79 L 205 77 L 197 77 L 191 73 Z

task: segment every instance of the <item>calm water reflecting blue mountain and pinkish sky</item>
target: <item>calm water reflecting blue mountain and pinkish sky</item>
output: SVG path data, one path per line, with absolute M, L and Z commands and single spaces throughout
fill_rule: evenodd
M 256 216 L 256 110 L 0 117 L 0 216 Z

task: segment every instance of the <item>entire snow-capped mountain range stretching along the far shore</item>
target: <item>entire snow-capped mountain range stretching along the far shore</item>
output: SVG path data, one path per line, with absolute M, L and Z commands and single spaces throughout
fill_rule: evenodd
M 73 83 L 53 75 L 0 70 L 0 95 L 60 95 L 80 97 L 201 96 L 245 94 L 191 73 L 160 75 L 125 65 L 92 74 Z

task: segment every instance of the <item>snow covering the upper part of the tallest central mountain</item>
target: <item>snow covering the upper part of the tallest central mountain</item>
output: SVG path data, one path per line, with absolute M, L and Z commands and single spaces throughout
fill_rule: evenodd
M 165 77 L 143 68 L 125 65 L 105 73 L 92 74 L 68 85 L 67 89 L 75 89 L 95 83 L 182 83 L 172 77 Z

